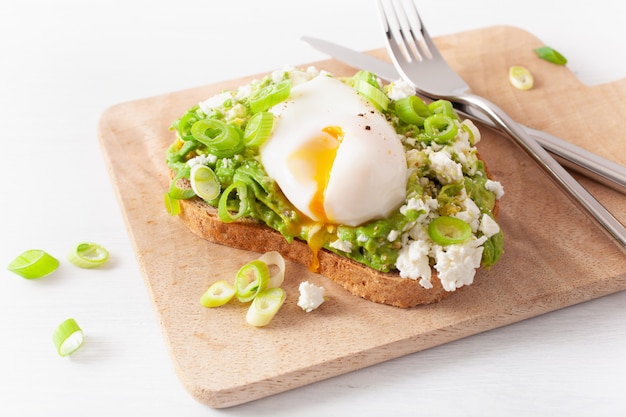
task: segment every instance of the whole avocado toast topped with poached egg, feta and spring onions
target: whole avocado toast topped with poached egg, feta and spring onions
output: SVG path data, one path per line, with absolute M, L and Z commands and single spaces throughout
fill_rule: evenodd
M 446 101 L 374 74 L 288 68 L 172 125 L 167 196 L 212 242 L 275 250 L 354 295 L 441 300 L 503 252 L 502 186 Z

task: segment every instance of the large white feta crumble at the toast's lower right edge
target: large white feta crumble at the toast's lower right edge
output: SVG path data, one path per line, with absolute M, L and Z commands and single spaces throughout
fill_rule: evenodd
M 435 247 L 435 269 L 446 291 L 454 291 L 474 282 L 476 268 L 483 256 L 481 246 L 487 238 L 473 239 L 464 244 Z

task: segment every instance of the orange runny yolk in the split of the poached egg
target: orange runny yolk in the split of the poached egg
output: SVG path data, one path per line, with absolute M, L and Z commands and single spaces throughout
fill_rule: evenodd
M 324 209 L 324 196 L 330 180 L 330 172 L 337 156 L 337 149 L 343 140 L 343 130 L 339 126 L 327 126 L 318 136 L 305 142 L 289 155 L 287 167 L 295 178 L 315 181 L 315 192 L 309 209 L 318 219 L 329 222 Z

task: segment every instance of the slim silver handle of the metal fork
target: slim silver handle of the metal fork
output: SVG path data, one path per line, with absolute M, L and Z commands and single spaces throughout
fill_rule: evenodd
M 496 104 L 473 94 L 463 94 L 451 101 L 475 107 L 507 133 L 559 185 L 567 196 L 600 228 L 619 243 L 626 253 L 626 228 L 594 196 L 572 177 L 539 143 Z

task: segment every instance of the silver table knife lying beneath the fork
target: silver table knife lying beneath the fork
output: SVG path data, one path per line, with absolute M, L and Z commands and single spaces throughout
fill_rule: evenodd
M 400 79 L 400 75 L 393 64 L 372 55 L 311 36 L 303 36 L 301 40 L 338 61 L 354 68 L 370 71 L 385 81 L 392 82 Z M 482 113 L 471 112 L 469 109 L 460 109 L 458 107 L 456 110 L 464 117 L 498 130 L 493 122 Z M 622 194 L 626 194 L 626 167 L 547 132 L 527 126 L 522 127 L 564 167 L 606 185 Z

